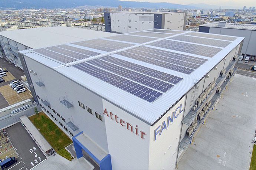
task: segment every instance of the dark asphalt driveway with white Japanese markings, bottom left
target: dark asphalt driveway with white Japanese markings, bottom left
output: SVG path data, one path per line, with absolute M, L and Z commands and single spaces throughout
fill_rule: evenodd
M 6 131 L 14 149 L 19 155 L 16 158 L 17 163 L 6 170 L 30 170 L 46 160 L 45 155 L 23 127 L 22 123 L 16 123 L 7 128 Z

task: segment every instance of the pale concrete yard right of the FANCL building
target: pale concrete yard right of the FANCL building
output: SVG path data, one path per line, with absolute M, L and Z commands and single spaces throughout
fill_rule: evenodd
M 255 135 L 256 78 L 235 74 L 178 163 L 181 170 L 246 170 Z

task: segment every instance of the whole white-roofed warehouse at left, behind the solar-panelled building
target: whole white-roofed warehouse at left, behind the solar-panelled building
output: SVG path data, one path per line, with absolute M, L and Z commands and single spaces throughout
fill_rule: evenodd
M 18 51 L 114 35 L 69 27 L 44 27 L 0 32 L 0 57 L 23 69 Z

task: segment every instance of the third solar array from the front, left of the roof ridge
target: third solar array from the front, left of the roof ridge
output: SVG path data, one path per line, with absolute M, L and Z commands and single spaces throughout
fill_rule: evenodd
M 132 35 L 118 35 L 118 36 L 112 36 L 112 37 L 106 37 L 106 38 L 111 40 L 127 41 L 131 43 L 140 43 L 140 44 L 157 40 L 157 38 L 138 37 L 138 36 L 132 36 Z

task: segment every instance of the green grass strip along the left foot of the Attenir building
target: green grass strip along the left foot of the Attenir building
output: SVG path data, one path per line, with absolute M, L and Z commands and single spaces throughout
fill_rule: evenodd
M 29 119 L 59 155 L 72 160 L 70 153 L 65 149 L 65 145 L 72 140 L 45 113 L 40 112 Z

